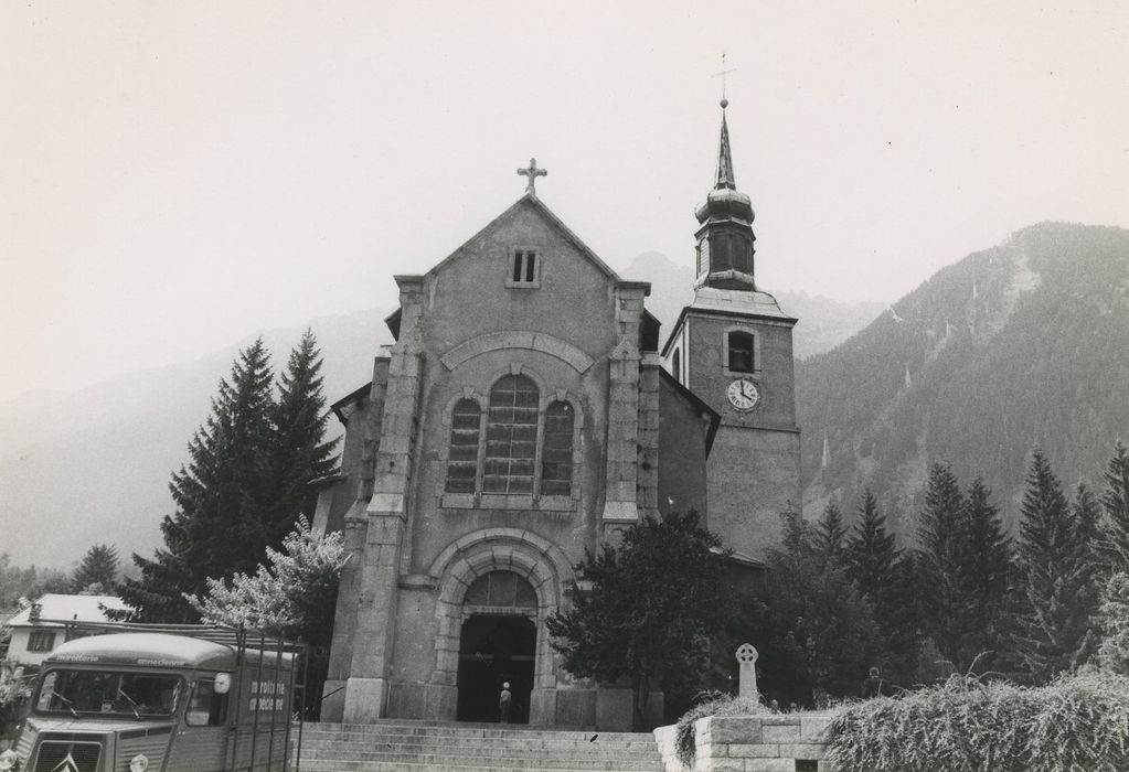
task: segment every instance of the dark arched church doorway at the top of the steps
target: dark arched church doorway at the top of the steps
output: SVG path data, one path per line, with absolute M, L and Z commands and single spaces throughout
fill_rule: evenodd
M 508 682 L 514 695 L 509 720 L 528 722 L 536 619 L 536 593 L 511 571 L 491 571 L 467 588 L 458 646 L 458 720 L 497 721 L 498 695 Z

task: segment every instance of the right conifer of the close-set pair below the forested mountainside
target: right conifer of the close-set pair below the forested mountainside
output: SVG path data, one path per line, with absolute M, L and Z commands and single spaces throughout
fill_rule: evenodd
M 990 501 L 991 492 L 977 476 L 969 486 L 961 524 L 960 572 L 964 587 L 962 612 L 964 640 L 960 659 L 986 669 L 999 653 L 1004 626 L 999 624 L 1007 600 L 1012 570 L 1012 543 L 1004 533 L 999 510 Z

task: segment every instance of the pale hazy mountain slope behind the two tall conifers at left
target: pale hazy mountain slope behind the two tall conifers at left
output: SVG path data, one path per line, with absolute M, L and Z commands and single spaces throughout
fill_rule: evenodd
M 322 346 L 331 402 L 371 377 L 373 357 L 391 341 L 383 317 L 374 309 L 308 325 Z M 275 369 L 304 328 L 263 333 Z M 20 565 L 67 565 L 95 543 L 116 545 L 123 558 L 151 552 L 173 508 L 169 473 L 185 463 L 219 379 L 248 342 L 0 405 L 0 552 Z

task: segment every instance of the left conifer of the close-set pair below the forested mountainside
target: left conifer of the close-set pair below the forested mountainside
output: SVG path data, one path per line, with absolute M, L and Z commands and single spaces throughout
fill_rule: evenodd
M 961 524 L 964 497 L 952 467 L 934 464 L 925 494 L 914 555 L 925 630 L 940 652 L 956 667 L 961 652 L 962 607 Z

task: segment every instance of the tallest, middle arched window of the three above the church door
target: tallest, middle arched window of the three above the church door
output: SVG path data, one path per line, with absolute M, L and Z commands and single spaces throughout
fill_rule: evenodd
M 505 376 L 490 389 L 484 493 L 532 493 L 537 458 L 537 386 Z

